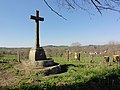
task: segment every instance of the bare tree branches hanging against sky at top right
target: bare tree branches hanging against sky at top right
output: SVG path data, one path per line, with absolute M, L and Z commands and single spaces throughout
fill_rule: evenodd
M 89 14 L 91 14 L 89 7 L 95 8 L 101 15 L 102 10 L 111 10 L 120 13 L 120 0 L 53 0 L 53 1 L 56 2 L 56 4 L 58 4 L 59 6 L 62 6 L 66 9 L 75 10 L 76 8 L 80 8 L 81 10 L 86 11 Z M 49 2 L 52 2 L 52 0 L 49 1 L 44 0 L 44 2 L 54 13 L 56 13 L 61 18 L 66 19 L 57 11 L 55 11 L 49 4 Z

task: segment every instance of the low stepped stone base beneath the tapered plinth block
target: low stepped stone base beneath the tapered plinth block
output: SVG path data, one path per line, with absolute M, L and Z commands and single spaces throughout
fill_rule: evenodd
M 53 60 L 42 60 L 30 62 L 30 60 L 22 61 L 21 67 L 25 73 L 43 73 L 44 75 L 58 74 L 61 72 L 61 66 Z

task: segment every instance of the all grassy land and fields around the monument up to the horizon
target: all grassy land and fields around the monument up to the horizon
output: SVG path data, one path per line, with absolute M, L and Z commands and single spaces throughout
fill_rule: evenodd
M 117 49 L 115 48 L 117 47 Z M 71 55 L 68 60 L 65 52 L 81 52 L 80 61 Z M 20 59 L 28 59 L 29 48 L 8 49 L 2 48 L 0 54 L 0 89 L 20 90 L 119 90 L 120 88 L 120 66 L 112 62 L 113 51 L 119 51 L 119 46 L 88 46 L 88 47 L 45 47 L 48 57 L 61 65 L 60 74 L 46 75 L 44 72 L 30 72 L 24 74 L 18 62 Z M 105 54 L 94 56 L 90 63 L 90 51 L 109 52 L 110 62 L 104 63 Z M 117 50 L 117 51 L 115 51 Z M 85 52 L 85 53 L 83 53 Z M 119 54 L 119 52 L 117 52 Z

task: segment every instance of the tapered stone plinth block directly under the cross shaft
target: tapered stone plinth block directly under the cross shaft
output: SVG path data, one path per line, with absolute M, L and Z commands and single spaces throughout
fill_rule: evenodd
M 29 60 L 40 61 L 40 60 L 45 60 L 45 59 L 46 59 L 46 55 L 42 47 L 31 48 L 30 53 L 29 53 Z

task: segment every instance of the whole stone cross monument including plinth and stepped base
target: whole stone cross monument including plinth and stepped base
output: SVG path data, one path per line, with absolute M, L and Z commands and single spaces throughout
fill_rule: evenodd
M 40 47 L 39 44 L 39 21 L 44 21 L 44 18 L 39 17 L 39 11 L 36 10 L 36 16 L 30 16 L 30 19 L 33 19 L 36 22 L 35 46 L 31 48 L 29 52 L 30 63 L 25 65 L 29 68 L 46 67 L 45 70 L 47 70 L 49 73 L 59 73 L 61 71 L 60 65 L 55 63 L 52 59 L 48 59 L 44 49 Z

